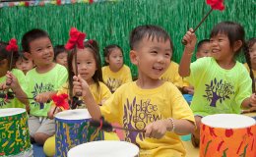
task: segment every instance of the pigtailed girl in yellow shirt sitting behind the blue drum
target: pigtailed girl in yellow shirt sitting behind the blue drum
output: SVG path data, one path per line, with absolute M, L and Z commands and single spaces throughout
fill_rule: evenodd
M 68 56 L 68 72 L 69 72 L 69 84 L 63 87 L 62 90 L 58 92 L 58 94 L 66 93 L 69 94 L 69 98 L 72 99 L 75 94 L 72 91 L 73 87 L 73 77 L 75 76 L 74 72 L 76 72 L 75 68 L 75 59 L 74 53 L 77 53 L 77 65 L 78 65 L 78 74 L 85 79 L 90 86 L 90 90 L 93 93 L 93 96 L 96 100 L 96 104 L 101 105 L 103 101 L 110 97 L 111 92 L 107 88 L 107 86 L 101 82 L 101 62 L 98 52 L 98 45 L 96 40 L 87 40 L 84 43 L 84 49 L 77 49 L 77 52 L 70 51 L 70 55 Z M 82 106 L 78 106 L 78 108 L 86 108 L 85 104 Z M 49 117 L 53 118 L 53 113 L 55 109 L 55 105 L 53 105 Z M 53 156 L 55 154 L 55 135 L 48 138 L 43 146 L 43 150 L 47 156 Z

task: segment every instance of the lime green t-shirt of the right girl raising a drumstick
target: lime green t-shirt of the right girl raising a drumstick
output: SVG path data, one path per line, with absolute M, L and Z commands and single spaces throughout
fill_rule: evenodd
M 224 70 L 214 58 L 204 57 L 191 64 L 187 79 L 195 88 L 194 115 L 239 114 L 242 101 L 252 94 L 252 80 L 239 62 Z

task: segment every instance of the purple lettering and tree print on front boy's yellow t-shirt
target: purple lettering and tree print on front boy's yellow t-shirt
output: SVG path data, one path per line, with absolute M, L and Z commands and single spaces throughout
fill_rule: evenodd
M 123 125 L 125 129 L 144 130 L 148 124 L 161 119 L 158 115 L 158 105 L 152 104 L 151 100 L 137 100 L 136 97 L 130 102 L 124 104 Z M 125 141 L 132 142 L 140 147 L 136 142 L 136 137 L 139 135 L 140 140 L 144 140 L 144 133 L 138 131 L 126 131 Z

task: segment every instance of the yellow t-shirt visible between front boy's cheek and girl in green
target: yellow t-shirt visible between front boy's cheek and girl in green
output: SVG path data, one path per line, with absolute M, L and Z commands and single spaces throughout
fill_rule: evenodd
M 182 88 L 183 80 L 178 74 L 178 67 L 177 63 L 171 61 L 168 69 L 161 75 L 160 79 L 170 81 L 178 88 Z

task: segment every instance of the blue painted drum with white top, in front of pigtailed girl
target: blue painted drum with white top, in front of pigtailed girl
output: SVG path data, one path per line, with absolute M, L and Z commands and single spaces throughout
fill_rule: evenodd
M 65 157 L 79 144 L 103 139 L 102 131 L 89 127 L 90 119 L 87 109 L 67 110 L 55 116 L 55 156 Z

